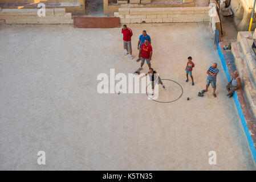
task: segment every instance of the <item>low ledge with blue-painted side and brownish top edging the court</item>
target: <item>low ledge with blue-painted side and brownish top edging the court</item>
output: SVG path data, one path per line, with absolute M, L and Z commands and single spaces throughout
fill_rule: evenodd
M 220 42 L 218 45 L 218 55 L 220 56 L 227 80 L 231 81 L 230 74 L 233 73 L 233 71 L 231 70 L 231 65 L 229 64 L 228 67 L 226 64 L 228 60 L 225 59 L 223 46 L 224 43 Z M 248 104 L 246 104 L 246 99 L 243 97 L 242 89 L 235 91 L 233 99 L 235 106 L 237 107 L 238 115 L 241 119 L 243 130 L 245 131 L 251 154 L 253 155 L 254 162 L 256 162 L 256 120 L 253 118 L 250 107 L 248 107 Z

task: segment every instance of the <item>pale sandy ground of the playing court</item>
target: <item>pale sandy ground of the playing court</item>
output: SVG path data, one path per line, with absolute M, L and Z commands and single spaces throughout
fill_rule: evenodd
M 134 56 L 141 31 L 148 31 L 152 67 L 181 84 L 178 101 L 97 93 L 99 73 L 139 67 L 124 56 L 120 28 L 0 26 L 0 169 L 255 170 L 208 23 L 128 26 Z M 194 86 L 185 82 L 188 56 L 196 64 Z M 198 97 L 214 61 L 217 98 L 211 88 Z M 166 92 L 180 91 L 170 84 Z M 40 150 L 46 165 L 37 164 Z M 208 163 L 209 151 L 216 151 L 216 165 Z

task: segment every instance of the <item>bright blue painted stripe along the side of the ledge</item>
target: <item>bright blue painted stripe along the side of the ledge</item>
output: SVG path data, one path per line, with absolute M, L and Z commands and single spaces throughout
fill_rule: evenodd
M 224 55 L 221 52 L 220 43 L 218 45 L 218 55 L 220 56 L 222 67 L 224 68 L 227 80 L 230 82 L 231 81 L 231 77 L 230 77 L 230 74 L 229 74 L 229 69 L 227 68 L 226 61 L 224 59 Z M 250 150 L 251 150 L 251 154 L 253 155 L 253 159 L 256 162 L 256 148 L 254 147 L 253 138 L 251 138 L 249 129 L 248 129 L 247 125 L 246 125 L 245 115 L 243 115 L 242 108 L 241 108 L 241 105 L 240 105 L 240 102 L 238 100 L 236 92 L 234 92 L 233 99 L 234 99 L 234 102 L 235 102 L 235 106 L 237 107 L 238 115 L 239 115 L 239 117 L 241 119 L 243 130 L 245 131 L 245 135 L 246 135 L 246 138 L 247 138 Z

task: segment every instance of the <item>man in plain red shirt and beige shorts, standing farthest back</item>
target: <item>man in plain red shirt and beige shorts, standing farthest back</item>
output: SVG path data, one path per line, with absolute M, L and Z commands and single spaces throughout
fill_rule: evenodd
M 128 52 L 130 53 L 130 58 L 132 57 L 132 29 L 128 28 L 126 24 L 124 24 L 122 28 L 122 34 L 123 34 L 123 40 L 124 40 L 124 49 L 126 49 L 126 52 L 124 55 L 128 55 Z

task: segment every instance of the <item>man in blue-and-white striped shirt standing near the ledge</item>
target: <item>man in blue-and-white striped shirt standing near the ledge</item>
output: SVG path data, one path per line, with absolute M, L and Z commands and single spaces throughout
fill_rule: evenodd
M 218 72 L 219 72 L 219 69 L 217 68 L 217 63 L 213 63 L 213 65 L 210 66 L 210 68 L 206 72 L 206 74 L 208 75 L 206 79 L 206 89 L 202 90 L 204 92 L 207 92 L 209 85 L 211 84 L 213 88 L 214 97 L 216 97 L 215 90 L 216 90 L 216 78 L 217 78 Z

